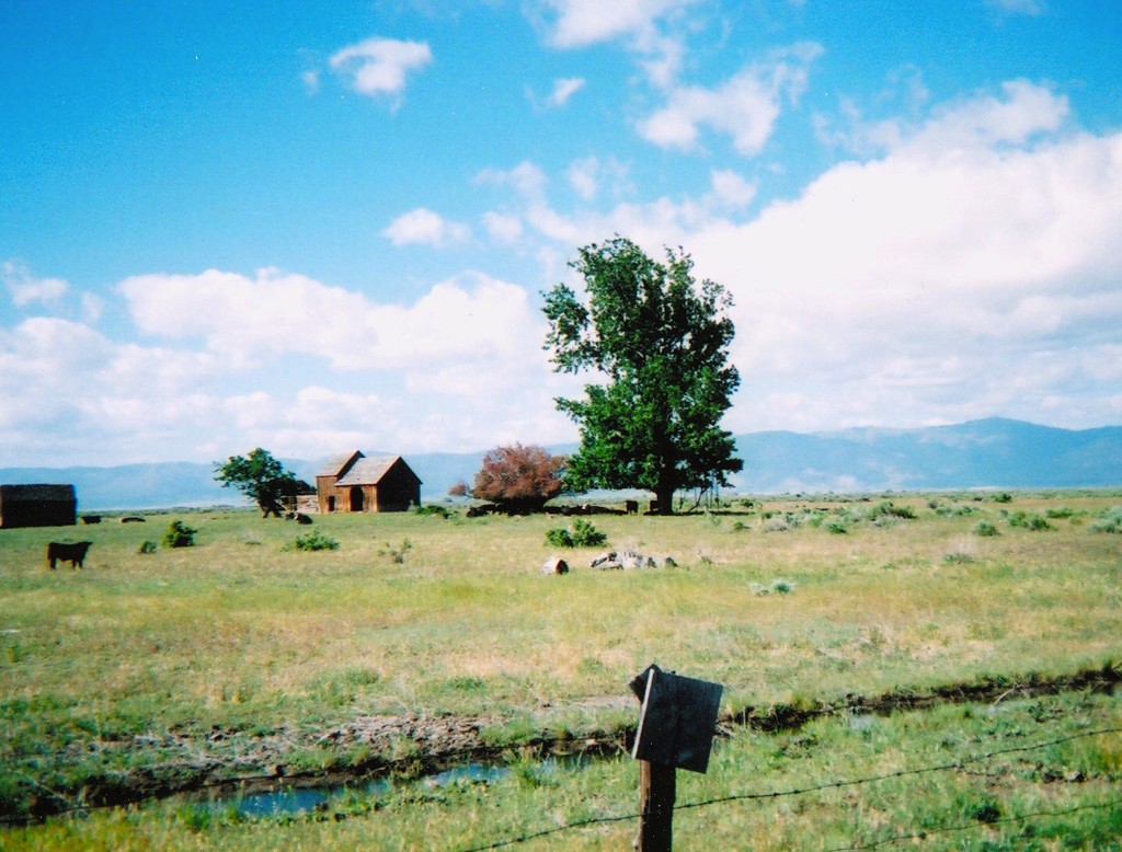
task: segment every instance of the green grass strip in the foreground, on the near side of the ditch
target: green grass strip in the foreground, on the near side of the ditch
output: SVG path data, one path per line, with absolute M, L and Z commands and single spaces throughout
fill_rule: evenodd
M 678 772 L 674 849 L 1119 850 L 1119 729 L 1118 698 L 1089 693 L 741 729 L 716 742 L 706 775 Z M 93 812 L 10 830 L 6 849 L 629 848 L 628 757 L 548 767 L 512 750 L 507 765 L 486 781 L 351 790 L 295 816 L 188 799 Z

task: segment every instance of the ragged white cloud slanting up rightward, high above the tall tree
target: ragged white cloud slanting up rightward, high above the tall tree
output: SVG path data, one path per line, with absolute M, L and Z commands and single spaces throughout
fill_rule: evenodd
M 745 67 L 716 89 L 672 87 L 666 105 L 638 122 L 640 136 L 664 148 L 690 150 L 701 128 L 709 127 L 730 136 L 739 154 L 757 155 L 774 131 L 784 98 L 799 100 L 809 65 L 821 52 L 819 45 L 803 43 Z

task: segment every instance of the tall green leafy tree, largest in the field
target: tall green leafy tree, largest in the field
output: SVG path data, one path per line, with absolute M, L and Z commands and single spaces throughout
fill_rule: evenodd
M 580 426 L 569 485 L 653 491 L 663 515 L 679 489 L 727 485 L 744 466 L 720 428 L 741 382 L 728 363 L 732 297 L 695 281 L 681 250 L 660 263 L 622 237 L 586 246 L 570 266 L 587 300 L 564 284 L 544 294 L 545 349 L 555 371 L 591 371 L 603 383 L 586 385 L 583 399 L 555 400 Z

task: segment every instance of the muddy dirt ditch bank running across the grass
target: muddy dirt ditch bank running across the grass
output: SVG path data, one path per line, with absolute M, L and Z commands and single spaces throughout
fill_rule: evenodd
M 746 706 L 723 716 L 718 734 L 742 725 L 767 732 L 794 730 L 812 719 L 839 713 L 886 714 L 938 704 L 997 703 L 1012 697 L 1069 691 L 1113 692 L 1120 683 L 1122 667 L 1107 665 L 1063 677 L 994 677 L 927 691 L 899 689 L 872 697 L 846 695 L 834 702 L 800 706 Z M 617 700 L 610 702 L 616 703 Z M 634 702 L 628 700 L 628 703 Z M 29 790 L 29 808 L 25 813 L 43 818 L 174 794 L 256 793 L 286 785 L 312 787 L 359 782 L 392 774 L 422 776 L 465 762 L 498 762 L 512 749 L 530 749 L 541 758 L 613 754 L 629 748 L 634 735 L 634 729 L 625 728 L 590 732 L 578 739 L 543 734 L 496 744 L 484 734 L 500 722 L 488 716 L 378 715 L 359 716 L 319 731 L 283 729 L 263 734 L 214 728 L 203 735 L 138 734 L 119 741 L 73 744 L 61 756 L 63 762 L 76 763 L 96 752 L 112 750 L 142 753 L 150 765 L 90 778 L 81 788 Z M 328 769 L 295 770 L 291 766 L 295 756 L 313 750 L 323 754 Z M 17 821 L 15 815 L 0 815 L 0 822 Z

